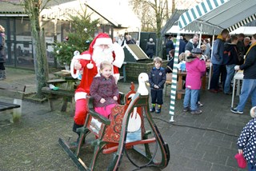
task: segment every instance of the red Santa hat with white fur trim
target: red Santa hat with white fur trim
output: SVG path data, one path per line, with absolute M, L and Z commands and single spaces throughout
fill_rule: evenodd
M 109 34 L 100 33 L 94 38 L 93 42 L 90 43 L 90 54 L 94 52 L 94 46 L 99 45 L 108 45 L 110 47 L 113 45 L 112 39 L 110 38 Z

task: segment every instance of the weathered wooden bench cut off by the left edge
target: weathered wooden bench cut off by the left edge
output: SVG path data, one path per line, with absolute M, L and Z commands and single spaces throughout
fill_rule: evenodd
M 13 109 L 13 115 L 11 122 L 19 121 L 22 116 L 22 100 L 25 95 L 26 85 L 11 84 L 6 82 L 1 82 L 0 84 L 0 96 L 14 98 L 14 102 L 6 102 L 1 99 L 0 101 L 0 111 Z

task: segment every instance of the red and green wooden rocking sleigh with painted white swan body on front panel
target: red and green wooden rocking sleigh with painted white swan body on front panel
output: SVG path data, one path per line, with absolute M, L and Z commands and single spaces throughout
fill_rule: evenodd
M 169 146 L 163 141 L 161 133 L 151 117 L 149 95 L 136 93 L 133 83 L 130 89 L 125 96 L 125 104 L 117 105 L 112 110 L 111 121 L 94 111 L 93 99 L 88 97 L 89 111 L 84 127 L 78 129 L 80 132 L 78 145 L 71 147 L 66 141 L 59 138 L 59 144 L 78 166 L 78 169 L 98 170 L 96 165 L 102 161 L 99 156 L 108 155 L 110 158 L 110 161 L 107 162 L 108 165 L 104 165 L 105 168 L 100 166 L 100 169 L 118 170 L 124 153 L 137 169 L 149 166 L 163 169 L 168 165 Z M 124 96 L 122 95 L 122 97 Z M 140 125 L 134 125 L 134 123 Z M 149 130 L 146 130 L 148 128 Z M 89 136 L 91 133 L 94 136 Z M 89 137 L 93 137 L 92 140 L 89 140 Z M 89 152 L 89 149 L 93 149 L 94 152 Z M 158 149 L 160 150 L 158 151 Z M 135 160 L 130 155 L 128 156 L 127 151 L 130 150 L 136 152 Z M 90 158 L 83 161 L 84 153 L 90 153 Z M 138 165 L 136 163 L 138 158 L 143 158 L 144 163 Z

